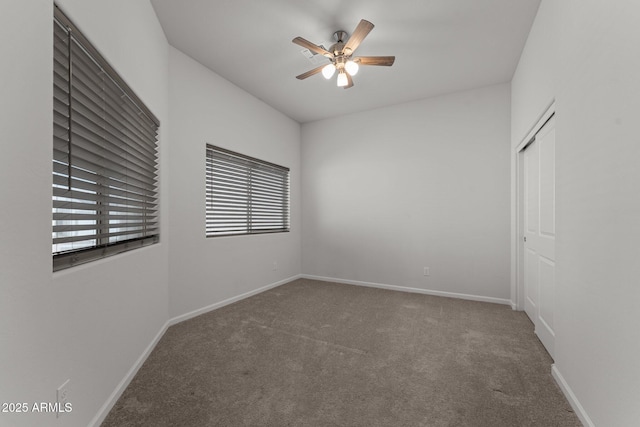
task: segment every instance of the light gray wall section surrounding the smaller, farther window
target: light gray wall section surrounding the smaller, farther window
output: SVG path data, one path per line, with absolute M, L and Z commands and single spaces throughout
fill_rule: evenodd
M 300 125 L 174 48 L 169 69 L 175 317 L 300 274 Z M 207 143 L 291 169 L 289 233 L 205 238 Z

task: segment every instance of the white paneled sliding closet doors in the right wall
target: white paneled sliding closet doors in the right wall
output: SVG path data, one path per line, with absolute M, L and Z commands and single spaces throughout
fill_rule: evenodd
M 525 312 L 554 356 L 555 311 L 555 119 L 524 150 Z

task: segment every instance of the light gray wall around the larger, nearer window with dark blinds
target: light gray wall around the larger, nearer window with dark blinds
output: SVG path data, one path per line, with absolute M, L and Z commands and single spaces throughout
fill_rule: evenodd
M 2 425 L 86 426 L 167 320 L 164 33 L 148 1 L 59 4 L 160 119 L 161 243 L 52 273 L 53 2 L 3 2 L 0 402 L 55 402 L 71 379 L 73 412 L 2 413 Z

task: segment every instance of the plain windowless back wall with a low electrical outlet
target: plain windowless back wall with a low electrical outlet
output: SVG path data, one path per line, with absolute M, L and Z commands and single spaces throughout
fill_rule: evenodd
M 508 300 L 509 97 L 304 124 L 303 273 Z

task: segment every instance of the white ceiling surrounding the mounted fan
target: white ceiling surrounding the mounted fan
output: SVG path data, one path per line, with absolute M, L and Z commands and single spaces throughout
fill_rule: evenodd
M 305 123 L 510 81 L 540 0 L 151 3 L 172 46 Z M 331 42 L 360 19 L 375 28 L 356 54 L 395 55 L 392 67 L 361 67 L 350 89 L 338 88 L 335 76 L 295 78 L 316 65 L 294 37 Z

